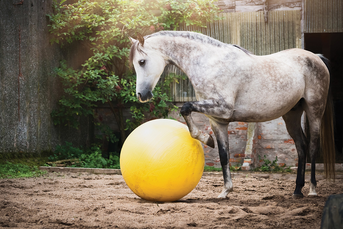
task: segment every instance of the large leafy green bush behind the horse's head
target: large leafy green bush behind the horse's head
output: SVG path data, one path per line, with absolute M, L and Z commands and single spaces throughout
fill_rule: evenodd
M 64 95 L 51 116 L 55 125 L 79 128 L 80 117 L 93 116 L 102 133 L 97 138 L 115 142 L 113 130 L 95 112 L 97 103 L 107 103 L 117 122 L 122 142 L 125 130 L 134 129 L 145 119 L 167 117 L 177 107 L 171 105 L 170 80 L 154 90 L 154 99 L 141 104 L 135 96 L 135 75 L 127 68 L 128 35 L 159 30 L 177 30 L 181 23 L 206 27 L 219 19 L 214 0 L 54 0 L 50 19 L 51 43 L 66 50 L 72 45 L 87 52 L 79 56 L 82 66 L 73 68 L 63 60 L 55 69 Z M 79 48 L 78 48 L 79 49 Z M 168 77 L 167 77 L 168 78 Z M 164 88 L 164 90 L 163 90 Z M 132 118 L 124 120 L 123 109 L 130 108 Z

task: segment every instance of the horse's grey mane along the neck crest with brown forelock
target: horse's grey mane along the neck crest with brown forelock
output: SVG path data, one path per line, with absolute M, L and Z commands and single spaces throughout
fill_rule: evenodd
M 196 33 L 196 32 L 189 32 L 189 31 L 160 31 L 160 32 L 156 32 L 156 33 L 153 33 L 150 35 L 146 35 L 146 36 L 144 36 L 144 39 L 147 39 L 149 37 L 155 37 L 155 36 L 184 37 L 184 38 L 188 38 L 188 39 L 199 40 L 202 43 L 214 45 L 217 47 L 223 47 L 223 46 L 229 45 L 229 44 L 225 44 L 223 42 L 217 41 L 216 39 L 213 39 L 212 37 L 206 36 L 204 34 Z M 240 50 L 244 51 L 248 55 L 252 54 L 252 52 L 250 52 L 247 49 L 242 48 L 238 45 L 232 45 L 232 46 L 239 48 Z M 140 53 L 144 53 L 144 51 L 142 51 L 142 49 L 140 48 L 138 41 L 134 42 L 130 48 L 130 55 L 129 55 L 130 67 L 132 67 L 132 62 L 133 62 L 136 51 L 138 51 Z

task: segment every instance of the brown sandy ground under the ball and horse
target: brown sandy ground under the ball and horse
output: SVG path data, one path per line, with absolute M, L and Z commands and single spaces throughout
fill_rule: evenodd
M 0 180 L 0 228 L 320 228 L 326 199 L 343 180 L 318 181 L 317 197 L 292 199 L 295 180 L 233 180 L 234 192 L 217 199 L 223 179 L 203 176 L 177 202 L 145 201 L 121 175 L 47 173 Z M 303 188 L 309 190 L 308 181 Z

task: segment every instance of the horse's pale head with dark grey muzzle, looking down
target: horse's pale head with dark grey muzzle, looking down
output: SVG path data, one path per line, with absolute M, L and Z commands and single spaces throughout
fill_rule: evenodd
M 144 103 L 153 98 L 152 91 L 163 73 L 166 60 L 153 44 L 145 42 L 142 34 L 137 33 L 137 40 L 129 38 L 132 42 L 129 61 L 137 74 L 136 95 Z

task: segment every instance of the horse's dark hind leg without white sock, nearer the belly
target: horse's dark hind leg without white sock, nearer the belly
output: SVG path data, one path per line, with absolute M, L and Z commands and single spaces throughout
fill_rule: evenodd
M 305 186 L 305 166 L 307 152 L 307 138 L 301 128 L 301 115 L 304 110 L 301 107 L 301 101 L 289 112 L 282 116 L 285 121 L 288 134 L 293 138 L 295 148 L 298 153 L 298 171 L 295 191 L 292 197 L 304 197 L 301 189 Z

